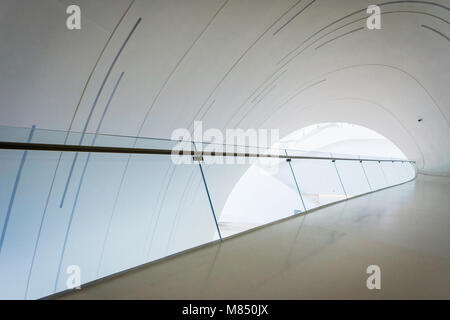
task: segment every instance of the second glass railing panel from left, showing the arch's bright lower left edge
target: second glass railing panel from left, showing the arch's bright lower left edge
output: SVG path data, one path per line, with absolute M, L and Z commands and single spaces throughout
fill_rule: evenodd
M 227 160 L 236 163 L 214 162 Z M 268 160 L 205 157 L 202 166 L 223 238 L 304 211 L 289 163 Z

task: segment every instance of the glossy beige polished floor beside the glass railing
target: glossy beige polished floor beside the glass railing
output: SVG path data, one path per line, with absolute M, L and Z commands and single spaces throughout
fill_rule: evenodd
M 450 178 L 421 175 L 60 298 L 449 299 L 449 228 Z

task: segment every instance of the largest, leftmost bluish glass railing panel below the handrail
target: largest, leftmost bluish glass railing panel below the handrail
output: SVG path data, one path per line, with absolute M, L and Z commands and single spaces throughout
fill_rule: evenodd
M 191 157 L 79 153 L 61 206 L 75 153 L 23 155 L 0 151 L 0 299 L 41 298 L 66 290 L 71 270 L 84 284 L 218 239 Z

